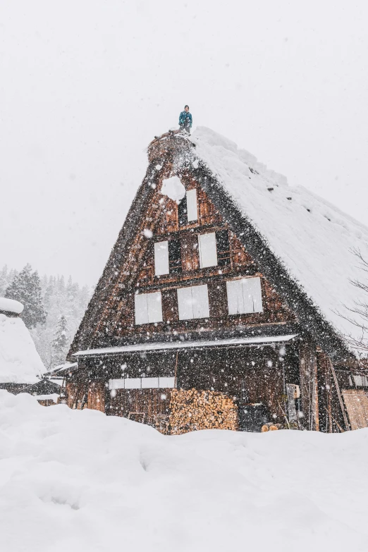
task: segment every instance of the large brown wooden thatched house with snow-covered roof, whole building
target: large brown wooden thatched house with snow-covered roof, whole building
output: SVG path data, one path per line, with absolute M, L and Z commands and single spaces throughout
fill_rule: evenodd
M 208 128 L 162 135 L 148 157 L 70 350 L 70 406 L 172 430 L 195 389 L 232 400 L 242 429 L 367 425 L 341 314 L 362 299 L 352 250 L 368 257 L 368 228 Z

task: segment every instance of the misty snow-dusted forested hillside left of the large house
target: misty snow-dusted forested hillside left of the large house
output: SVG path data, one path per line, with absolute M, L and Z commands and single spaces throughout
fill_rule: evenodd
M 47 369 L 65 360 L 91 294 L 70 276 L 67 281 L 59 275 L 39 278 L 29 264 L 20 272 L 6 265 L 0 270 L 0 297 L 25 305 L 22 318 Z

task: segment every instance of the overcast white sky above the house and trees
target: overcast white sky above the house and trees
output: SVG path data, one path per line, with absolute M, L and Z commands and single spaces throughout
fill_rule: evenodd
M 0 3 L 0 267 L 96 283 L 184 104 L 362 222 L 366 0 Z

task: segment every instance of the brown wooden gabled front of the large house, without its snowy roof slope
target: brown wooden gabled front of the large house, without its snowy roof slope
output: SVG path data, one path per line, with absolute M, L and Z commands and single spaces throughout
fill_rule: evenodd
M 78 360 L 66 378 L 70 407 L 170 432 L 178 390 L 197 390 L 207 403 L 233 401 L 232 429 L 267 421 L 349 429 L 341 384 L 349 387 L 355 358 L 341 337 L 196 161 L 186 135 L 155 139 L 148 155 L 69 353 Z M 185 188 L 180 201 L 161 194 L 173 176 Z M 204 426 L 183 431 L 193 427 Z

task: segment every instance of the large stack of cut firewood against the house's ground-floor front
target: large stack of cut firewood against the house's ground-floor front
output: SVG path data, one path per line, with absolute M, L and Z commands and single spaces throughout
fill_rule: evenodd
M 180 435 L 200 429 L 238 429 L 238 407 L 217 391 L 173 389 L 170 402 L 170 433 Z

